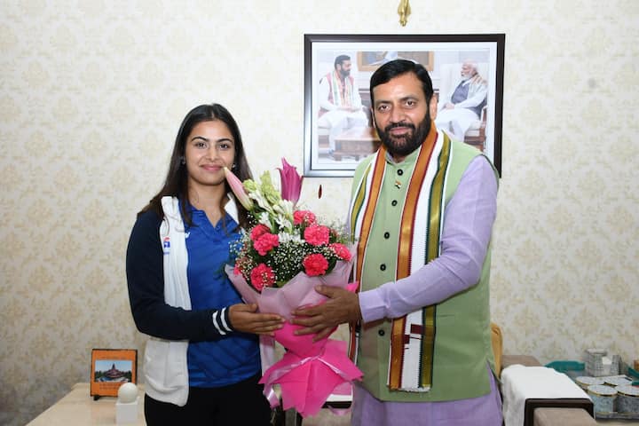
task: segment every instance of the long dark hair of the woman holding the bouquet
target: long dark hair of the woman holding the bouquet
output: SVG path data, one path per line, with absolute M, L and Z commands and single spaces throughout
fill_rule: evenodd
M 201 105 L 195 106 L 188 114 L 186 114 L 179 130 L 177 131 L 177 137 L 175 145 L 173 146 L 173 154 L 171 154 L 169 172 L 164 181 L 164 185 L 159 193 L 157 193 L 151 201 L 142 209 L 138 216 L 144 213 L 146 210 L 154 210 L 159 217 L 163 216 L 162 212 L 162 197 L 172 196 L 177 197 L 180 200 L 180 211 L 186 224 L 193 225 L 191 214 L 186 206 L 188 205 L 188 172 L 186 165 L 183 164 L 185 157 L 186 138 L 191 134 L 191 131 L 195 126 L 201 122 L 212 122 L 219 120 L 224 122 L 228 129 L 231 131 L 233 140 L 235 141 L 235 168 L 233 173 L 239 177 L 241 181 L 252 178 L 250 168 L 248 167 L 248 161 L 246 154 L 244 154 L 244 145 L 242 144 L 240 128 L 233 119 L 233 115 L 228 110 L 219 104 Z M 225 182 L 226 192 L 231 192 L 231 187 Z M 224 201 L 224 199 L 223 199 Z M 238 208 L 238 217 L 241 226 L 247 225 L 248 213 L 241 204 L 236 203 Z M 224 209 L 224 206 L 220 206 Z

